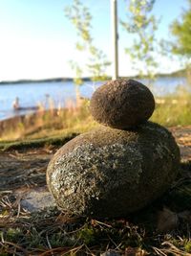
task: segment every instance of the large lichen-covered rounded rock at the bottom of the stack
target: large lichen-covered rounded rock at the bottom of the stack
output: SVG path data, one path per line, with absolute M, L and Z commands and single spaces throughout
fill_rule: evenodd
M 47 183 L 69 214 L 122 217 L 159 198 L 180 165 L 171 133 L 146 122 L 134 130 L 100 127 L 55 153 Z

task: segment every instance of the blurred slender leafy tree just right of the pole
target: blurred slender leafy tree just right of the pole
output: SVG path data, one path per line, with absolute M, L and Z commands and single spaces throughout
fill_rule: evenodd
M 156 17 L 151 14 L 155 0 L 129 0 L 127 21 L 120 21 L 125 31 L 134 35 L 133 44 L 125 48 L 130 56 L 138 75 L 145 73 L 149 78 L 154 77 L 154 68 L 158 66 L 154 52 L 156 50 L 156 36 L 158 30 Z M 143 67 L 138 68 L 138 63 Z

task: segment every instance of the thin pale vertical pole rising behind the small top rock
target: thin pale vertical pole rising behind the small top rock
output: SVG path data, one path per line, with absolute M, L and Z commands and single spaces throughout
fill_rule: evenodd
M 112 44 L 113 44 L 113 72 L 112 80 L 118 78 L 118 35 L 117 35 L 117 0 L 111 0 L 111 16 L 112 16 Z

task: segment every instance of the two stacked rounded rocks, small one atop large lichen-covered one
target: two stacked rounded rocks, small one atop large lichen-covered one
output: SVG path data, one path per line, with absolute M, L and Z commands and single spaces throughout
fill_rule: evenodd
M 125 217 L 159 198 L 180 167 L 172 134 L 148 122 L 151 91 L 133 80 L 97 88 L 90 109 L 103 126 L 75 137 L 55 153 L 47 183 L 68 214 Z

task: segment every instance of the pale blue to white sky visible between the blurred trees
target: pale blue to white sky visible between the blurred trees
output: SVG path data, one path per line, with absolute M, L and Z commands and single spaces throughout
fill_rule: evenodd
M 110 0 L 81 0 L 93 14 L 94 44 L 112 59 Z M 170 38 L 169 25 L 180 17 L 186 0 L 156 0 L 153 13 L 160 18 L 158 38 Z M 74 77 L 70 60 L 82 67 L 89 58 L 75 50 L 74 26 L 64 9 L 72 0 L 0 0 L 0 81 Z M 95 4 L 96 3 L 96 4 Z M 125 0 L 117 0 L 118 17 L 125 17 Z M 124 53 L 132 37 L 118 29 L 119 76 L 135 74 Z M 159 58 L 159 72 L 172 72 L 180 62 Z M 111 75 L 112 68 L 108 69 Z M 85 71 L 84 76 L 90 74 Z

